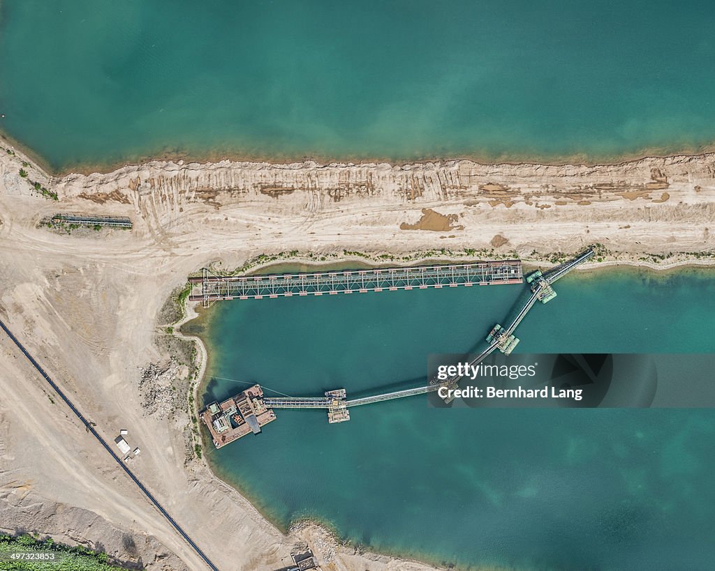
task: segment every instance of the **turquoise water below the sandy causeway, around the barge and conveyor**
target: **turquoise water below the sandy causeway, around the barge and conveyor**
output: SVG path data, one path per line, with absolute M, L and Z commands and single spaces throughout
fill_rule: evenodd
M 713 277 L 567 276 L 522 323 L 518 349 L 713 353 Z M 473 348 L 520 291 L 218 304 L 212 373 L 290 395 L 416 383 L 429 353 Z M 204 398 L 241 386 L 214 379 Z M 278 525 L 315 517 L 384 552 L 461 567 L 694 570 L 715 557 L 714 438 L 711 409 L 445 410 L 415 397 L 353 409 L 341 425 L 278 410 L 261 435 L 209 455 Z

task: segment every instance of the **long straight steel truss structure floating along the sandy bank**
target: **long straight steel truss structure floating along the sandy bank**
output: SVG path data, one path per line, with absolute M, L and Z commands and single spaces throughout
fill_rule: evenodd
M 204 268 L 200 278 L 189 278 L 189 282 L 192 285 L 189 300 L 201 301 L 207 307 L 215 301 L 232 299 L 523 283 L 523 275 L 521 260 L 502 260 L 267 276 L 215 276 Z

